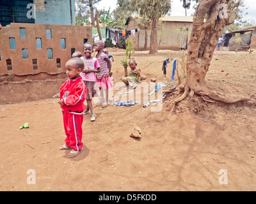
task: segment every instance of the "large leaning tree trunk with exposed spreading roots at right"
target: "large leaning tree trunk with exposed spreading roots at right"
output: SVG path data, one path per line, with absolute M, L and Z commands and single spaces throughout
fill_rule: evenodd
M 227 5 L 227 13 L 223 13 L 220 4 Z M 205 75 L 209 69 L 221 31 L 225 25 L 234 22 L 238 6 L 239 3 L 234 4 L 230 0 L 201 0 L 198 4 L 188 43 L 187 78 L 185 84 L 181 85 L 181 88 L 184 89 L 184 94 L 176 99 L 175 103 L 186 98 L 189 92 L 190 96 L 196 93 L 225 103 L 248 100 L 244 96 L 221 94 L 218 91 L 214 91 L 205 82 Z M 236 15 L 230 21 L 233 10 L 236 10 Z M 220 12 L 227 16 L 220 15 Z M 204 21 L 205 15 L 207 15 L 207 19 Z

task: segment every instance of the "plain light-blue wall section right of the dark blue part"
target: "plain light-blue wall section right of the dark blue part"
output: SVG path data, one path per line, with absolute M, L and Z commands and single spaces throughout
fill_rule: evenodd
M 36 24 L 76 25 L 75 0 L 34 0 L 34 3 Z

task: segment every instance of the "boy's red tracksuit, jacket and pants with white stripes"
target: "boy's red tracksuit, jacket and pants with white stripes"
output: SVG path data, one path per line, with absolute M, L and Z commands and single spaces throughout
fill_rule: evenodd
M 66 145 L 76 151 L 83 147 L 82 124 L 84 100 L 87 91 L 81 77 L 68 79 L 60 88 L 60 98 L 63 99 L 63 124 L 67 138 Z

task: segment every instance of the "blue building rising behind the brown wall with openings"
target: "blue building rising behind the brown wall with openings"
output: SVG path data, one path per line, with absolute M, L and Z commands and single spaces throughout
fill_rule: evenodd
M 1 0 L 0 23 L 76 25 L 76 0 Z

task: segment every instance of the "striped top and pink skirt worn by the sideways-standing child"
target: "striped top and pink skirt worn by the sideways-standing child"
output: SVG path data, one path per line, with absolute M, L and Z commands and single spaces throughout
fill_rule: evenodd
M 100 64 L 100 73 L 97 73 L 97 86 L 102 89 L 109 89 L 113 87 L 113 83 L 111 81 L 111 78 L 108 75 L 108 62 L 105 60 L 105 58 L 108 58 L 108 55 L 104 54 L 97 54 L 96 55 L 97 60 Z

